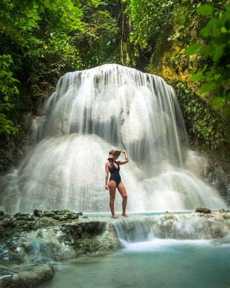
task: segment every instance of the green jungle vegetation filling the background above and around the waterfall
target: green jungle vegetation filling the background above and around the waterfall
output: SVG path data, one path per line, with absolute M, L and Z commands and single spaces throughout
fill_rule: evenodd
M 165 76 L 180 91 L 191 84 L 224 126 L 230 119 L 230 1 L 1 0 L 1 139 L 20 131 L 23 113 L 36 113 L 61 75 L 105 63 Z M 227 137 L 218 136 L 218 143 Z

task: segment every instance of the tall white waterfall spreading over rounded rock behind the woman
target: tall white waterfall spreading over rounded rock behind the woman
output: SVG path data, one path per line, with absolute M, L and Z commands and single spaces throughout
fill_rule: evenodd
M 156 75 L 116 64 L 66 73 L 33 123 L 31 151 L 1 179 L 1 209 L 109 212 L 104 188 L 111 148 L 125 149 L 128 212 L 226 208 L 192 171 L 181 110 Z M 118 160 L 123 160 L 123 155 Z M 116 196 L 115 211 L 121 211 Z

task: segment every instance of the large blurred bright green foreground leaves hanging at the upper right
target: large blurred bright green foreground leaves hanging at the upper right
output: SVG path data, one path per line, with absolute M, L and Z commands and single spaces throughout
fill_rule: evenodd
M 208 42 L 202 45 L 199 42 L 190 45 L 185 53 L 187 55 L 199 53 L 204 59 L 209 59 L 209 66 L 204 65 L 196 74 L 190 77 L 191 81 L 203 82 L 199 92 L 216 91 L 218 97 L 214 98 L 214 107 L 219 108 L 230 100 L 230 4 L 227 11 L 218 11 L 215 17 L 210 15 L 214 7 L 209 4 L 200 5 L 197 8 L 200 15 L 209 17 L 207 24 L 200 29 L 199 36 L 207 38 Z M 224 114 L 230 116 L 230 108 L 225 109 Z

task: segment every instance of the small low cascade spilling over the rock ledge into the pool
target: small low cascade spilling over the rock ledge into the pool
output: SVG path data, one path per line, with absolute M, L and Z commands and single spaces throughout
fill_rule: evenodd
M 122 217 L 122 216 L 121 216 Z M 167 249 L 171 245 L 211 245 L 212 239 L 229 237 L 228 221 L 219 212 L 130 215 L 112 221 L 117 238 L 127 250 Z

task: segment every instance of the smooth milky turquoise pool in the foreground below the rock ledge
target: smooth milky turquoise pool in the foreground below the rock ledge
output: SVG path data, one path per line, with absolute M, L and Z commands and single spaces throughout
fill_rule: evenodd
M 39 288 L 229 288 L 230 245 L 154 239 L 126 249 L 66 261 Z

